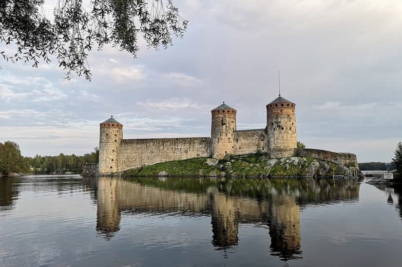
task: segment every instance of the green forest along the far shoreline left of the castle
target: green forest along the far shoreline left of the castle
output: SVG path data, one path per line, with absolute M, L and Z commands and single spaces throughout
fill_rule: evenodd
M 0 142 L 0 176 L 10 173 L 81 173 L 85 163 L 97 163 L 99 150 L 94 148 L 91 153 L 79 155 L 24 157 L 16 142 Z

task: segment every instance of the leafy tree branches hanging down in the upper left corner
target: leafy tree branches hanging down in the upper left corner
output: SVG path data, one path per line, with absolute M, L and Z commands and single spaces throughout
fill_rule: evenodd
M 54 55 L 67 79 L 72 73 L 91 79 L 87 56 L 94 45 L 102 50 L 111 44 L 135 58 L 139 34 L 148 47 L 166 49 L 173 36 L 183 37 L 188 23 L 172 0 L 166 6 L 162 0 L 91 0 L 88 9 L 83 0 L 57 0 L 54 22 L 46 19 L 44 1 L 0 1 L 0 43 L 17 48 L 14 55 L 0 54 L 33 67 Z

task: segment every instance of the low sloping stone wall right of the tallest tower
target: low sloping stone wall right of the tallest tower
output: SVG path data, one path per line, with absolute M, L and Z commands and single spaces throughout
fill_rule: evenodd
M 320 149 L 296 148 L 295 155 L 300 157 L 320 158 L 337 164 L 342 164 L 346 167 L 359 168 L 357 157 L 352 153 L 336 153 Z

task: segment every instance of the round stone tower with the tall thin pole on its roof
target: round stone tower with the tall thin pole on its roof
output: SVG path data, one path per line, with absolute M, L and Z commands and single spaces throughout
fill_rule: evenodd
M 281 95 L 267 105 L 268 151 L 271 158 L 294 155 L 297 147 L 296 104 Z

